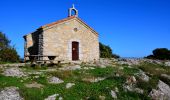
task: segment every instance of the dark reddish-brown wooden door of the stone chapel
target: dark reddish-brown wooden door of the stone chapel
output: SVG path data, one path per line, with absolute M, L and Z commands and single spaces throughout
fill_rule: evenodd
M 79 60 L 79 43 L 72 42 L 72 60 Z

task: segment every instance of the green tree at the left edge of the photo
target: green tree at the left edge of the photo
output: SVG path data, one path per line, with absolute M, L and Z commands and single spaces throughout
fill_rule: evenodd
M 14 47 L 10 46 L 10 40 L 0 32 L 0 62 L 18 62 L 19 55 Z

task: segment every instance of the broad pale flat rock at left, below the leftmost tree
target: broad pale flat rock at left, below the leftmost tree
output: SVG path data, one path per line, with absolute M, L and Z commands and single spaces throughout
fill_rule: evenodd
M 24 74 L 24 72 L 22 72 L 22 70 L 20 68 L 17 68 L 17 67 L 5 69 L 3 75 L 18 77 L 18 78 L 26 76 L 26 74 Z

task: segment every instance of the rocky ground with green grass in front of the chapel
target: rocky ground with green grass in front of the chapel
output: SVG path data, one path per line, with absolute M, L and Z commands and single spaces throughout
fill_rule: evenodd
M 170 61 L 0 65 L 0 100 L 170 100 Z

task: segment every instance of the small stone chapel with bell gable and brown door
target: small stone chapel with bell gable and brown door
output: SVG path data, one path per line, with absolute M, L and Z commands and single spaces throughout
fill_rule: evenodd
M 89 62 L 99 59 L 99 35 L 78 17 L 74 5 L 68 17 L 24 36 L 24 59 L 31 55 L 57 56 L 56 61 Z

